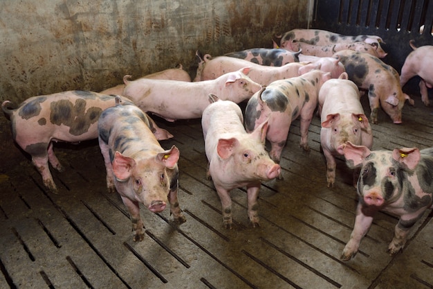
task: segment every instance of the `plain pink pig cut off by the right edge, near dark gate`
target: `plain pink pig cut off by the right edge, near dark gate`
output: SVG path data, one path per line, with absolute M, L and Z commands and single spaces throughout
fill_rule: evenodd
M 410 40 L 409 45 L 414 49 L 405 60 L 401 67 L 400 85 L 404 87 L 407 81 L 414 76 L 419 76 L 419 89 L 421 91 L 421 100 L 424 105 L 429 106 L 427 88 L 433 87 L 433 46 L 425 45 L 416 48 L 414 41 Z

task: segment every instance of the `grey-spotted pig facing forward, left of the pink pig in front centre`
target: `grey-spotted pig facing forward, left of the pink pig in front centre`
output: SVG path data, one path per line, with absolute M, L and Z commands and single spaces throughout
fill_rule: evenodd
M 186 221 L 178 204 L 179 150 L 165 150 L 152 134 L 149 121 L 135 105 L 116 105 L 98 120 L 98 141 L 107 170 L 107 188 L 118 191 L 132 223 L 133 241 L 144 238 L 140 203 L 149 211 L 170 213 Z

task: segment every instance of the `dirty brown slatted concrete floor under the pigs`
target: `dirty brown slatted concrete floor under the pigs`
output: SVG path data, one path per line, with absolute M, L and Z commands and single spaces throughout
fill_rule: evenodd
M 433 146 L 432 109 L 414 98 L 416 107 L 405 106 L 402 125 L 380 111 L 379 124 L 372 125 L 374 149 Z M 433 287 L 430 210 L 403 253 L 387 255 L 398 219 L 378 213 L 356 258 L 340 261 L 357 196 L 342 159 L 336 186 L 326 187 L 317 117 L 309 154 L 298 146 L 299 121 L 292 124 L 281 163 L 284 180 L 261 187 L 261 227 L 249 225 L 245 191 L 232 191 L 231 230 L 223 228 L 221 203 L 205 179 L 200 120 L 156 121 L 175 136 L 162 146 L 181 150 L 179 202 L 187 222 L 176 226 L 168 210 L 142 209 L 145 239 L 133 243 L 125 206 L 105 188 L 97 141 L 55 146 L 66 166 L 63 173 L 53 172 L 55 195 L 44 189 L 1 118 L 0 288 Z

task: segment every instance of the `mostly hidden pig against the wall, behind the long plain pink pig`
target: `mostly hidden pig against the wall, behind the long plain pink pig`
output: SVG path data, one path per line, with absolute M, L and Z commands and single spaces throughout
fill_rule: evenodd
M 128 84 L 128 80 L 131 78 L 129 74 L 123 76 L 123 84 L 116 85 L 115 87 L 111 87 L 108 89 L 104 89 L 100 91 L 101 94 L 114 94 L 121 95 L 123 89 Z M 142 76 L 141 78 L 149 78 L 149 79 L 166 79 L 166 80 L 179 80 L 179 81 L 187 81 L 191 82 L 191 76 L 187 71 L 183 69 L 182 64 L 178 64 L 176 68 L 165 69 L 163 71 L 158 71 L 155 73 L 147 74 L 146 76 Z

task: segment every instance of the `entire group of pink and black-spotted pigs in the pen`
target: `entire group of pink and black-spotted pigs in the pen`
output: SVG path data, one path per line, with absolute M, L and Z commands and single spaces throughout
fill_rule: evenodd
M 246 187 L 248 218 L 259 225 L 257 197 L 262 181 L 283 179 L 279 161 L 289 128 L 300 119 L 300 146 L 309 150 L 308 127 L 320 116 L 320 141 L 326 159 L 326 183 L 335 183 L 335 157 L 353 168 L 359 195 L 356 220 L 341 259 L 356 255 L 374 213 L 400 216 L 389 253 L 405 245 L 409 229 L 432 207 L 433 148 L 371 151 L 370 123 L 380 107 L 394 123 L 402 123 L 402 91 L 420 76 L 423 103 L 433 85 L 433 46 L 416 48 L 407 56 L 401 76 L 380 58 L 386 53 L 375 35 L 348 36 L 326 30 L 294 29 L 273 49 L 248 49 L 225 55 L 201 56 L 194 81 L 182 67 L 166 69 L 100 93 L 64 91 L 28 98 L 16 106 L 2 104 L 10 119 L 12 138 L 27 152 L 53 193 L 57 187 L 49 164 L 62 171 L 53 141 L 99 140 L 107 169 L 107 189 L 117 191 L 129 210 L 133 240 L 143 239 L 139 204 L 152 212 L 169 203 L 178 223 L 186 221 L 178 203 L 176 146 L 165 150 L 158 140 L 174 137 L 147 113 L 166 121 L 201 118 L 206 177 L 221 200 L 223 225 L 232 227 L 230 191 Z M 366 116 L 360 97 L 367 94 Z M 239 103 L 246 103 L 242 112 Z M 245 119 L 244 119 L 245 118 Z M 266 140 L 270 151 L 265 150 Z M 358 176 L 359 175 L 359 176 Z M 354 181 L 356 182 L 356 181 Z

